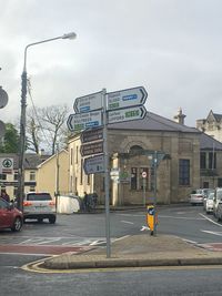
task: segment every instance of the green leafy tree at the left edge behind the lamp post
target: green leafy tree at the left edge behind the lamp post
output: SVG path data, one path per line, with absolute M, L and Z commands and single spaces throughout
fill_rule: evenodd
M 19 152 L 19 133 L 12 123 L 6 123 L 6 134 L 0 143 L 0 153 Z

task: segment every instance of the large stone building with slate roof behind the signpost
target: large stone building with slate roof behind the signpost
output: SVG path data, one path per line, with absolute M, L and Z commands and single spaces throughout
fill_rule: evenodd
M 184 119 L 182 110 L 180 114 Z M 212 141 L 215 141 L 205 136 L 194 127 L 151 112 L 148 112 L 143 120 L 109 124 L 109 169 L 111 172 L 118 172 L 110 182 L 110 203 L 143 204 L 144 198 L 148 203 L 153 198 L 154 185 L 158 203 L 185 202 L 193 188 L 212 185 L 212 176 L 202 177 L 200 174 L 200 160 L 203 164 L 201 144 L 205 146 L 205 157 L 210 157 L 210 146 L 213 145 Z M 79 195 L 83 195 L 83 192 L 97 192 L 99 202 L 104 203 L 104 176 L 84 174 L 84 160 L 81 157 L 80 147 L 80 135 L 74 135 L 69 142 L 70 192 L 78 192 Z M 216 152 L 220 151 L 222 145 L 216 141 Z M 157 184 L 152 165 L 155 152 L 162 155 L 157 169 Z M 216 156 L 216 162 L 222 167 L 221 155 Z M 218 170 L 214 183 L 220 178 L 220 174 L 222 175 L 222 172 Z

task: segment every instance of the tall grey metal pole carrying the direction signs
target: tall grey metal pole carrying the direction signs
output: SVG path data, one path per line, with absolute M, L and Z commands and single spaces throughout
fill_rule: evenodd
M 105 236 L 107 236 L 107 258 L 111 256 L 110 247 L 110 176 L 109 176 L 109 153 L 108 153 L 108 118 L 107 118 L 107 90 L 102 90 L 103 96 L 103 151 L 104 151 L 104 187 L 105 187 Z

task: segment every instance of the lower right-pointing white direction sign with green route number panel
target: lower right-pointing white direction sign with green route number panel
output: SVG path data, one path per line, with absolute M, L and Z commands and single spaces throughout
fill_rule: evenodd
M 145 114 L 147 114 L 147 109 L 143 105 L 109 111 L 108 123 L 142 120 L 144 119 Z

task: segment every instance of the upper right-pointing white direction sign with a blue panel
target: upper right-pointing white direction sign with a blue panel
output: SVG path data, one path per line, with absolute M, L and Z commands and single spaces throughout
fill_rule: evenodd
M 108 110 L 143 105 L 148 93 L 143 86 L 108 93 Z

